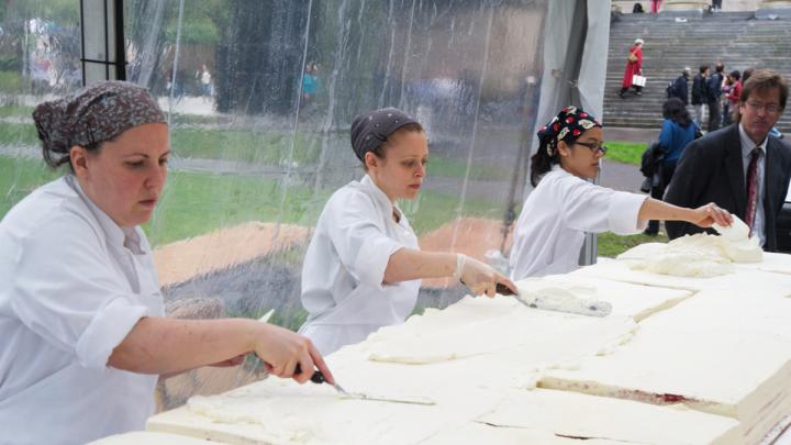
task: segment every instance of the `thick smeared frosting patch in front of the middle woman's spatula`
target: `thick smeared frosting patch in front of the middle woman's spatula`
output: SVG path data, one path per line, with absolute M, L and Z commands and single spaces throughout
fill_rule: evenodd
M 509 297 L 468 297 L 445 311 L 412 316 L 398 329 L 381 330 L 368 338 L 365 351 L 370 360 L 417 365 L 515 349 L 554 349 L 553 343 L 562 336 L 568 342 L 566 356 L 576 358 L 633 326 L 631 320 L 617 315 L 592 319 L 526 308 Z M 591 334 L 593 325 L 598 329 Z M 555 354 L 547 352 L 547 356 Z

